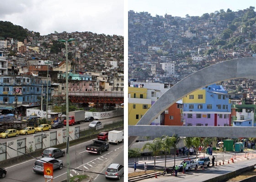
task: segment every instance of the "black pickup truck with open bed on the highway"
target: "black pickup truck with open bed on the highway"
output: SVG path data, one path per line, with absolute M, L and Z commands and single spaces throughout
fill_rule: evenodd
M 109 144 L 98 140 L 93 140 L 93 143 L 86 145 L 86 152 L 101 154 L 102 151 L 108 151 Z

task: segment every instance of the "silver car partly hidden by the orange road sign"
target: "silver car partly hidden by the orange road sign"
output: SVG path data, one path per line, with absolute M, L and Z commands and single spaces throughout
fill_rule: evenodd
M 52 157 L 43 157 L 42 159 L 38 159 L 34 166 L 33 171 L 38 173 L 43 173 L 43 163 L 50 162 L 53 164 L 53 170 L 54 169 L 62 169 L 63 162 L 59 159 L 54 159 Z

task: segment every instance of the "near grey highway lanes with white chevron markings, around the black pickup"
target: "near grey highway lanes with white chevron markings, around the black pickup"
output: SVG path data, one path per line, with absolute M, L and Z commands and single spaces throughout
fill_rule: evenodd
M 101 155 L 85 152 L 85 146 L 92 143 L 91 141 L 83 142 L 79 145 L 70 147 L 70 177 L 86 174 L 91 178 L 96 178 L 101 175 L 91 172 L 101 173 L 104 176 L 106 167 L 113 161 L 123 163 L 123 142 L 119 145 L 110 144 L 109 150 L 102 152 Z M 122 154 L 121 154 L 122 153 Z M 38 156 L 38 158 L 41 158 Z M 66 155 L 58 159 L 64 162 L 64 167 L 61 170 L 53 172 L 53 182 L 61 182 L 67 178 L 66 170 Z M 31 159 L 25 162 L 14 164 L 10 167 L 5 167 L 7 175 L 0 182 L 45 182 L 43 174 L 38 174 L 32 171 L 32 167 L 36 159 Z M 80 169 L 85 172 L 76 171 Z M 104 176 L 105 178 L 105 176 Z M 122 178 L 123 179 L 123 178 Z M 47 180 L 50 182 L 51 180 Z

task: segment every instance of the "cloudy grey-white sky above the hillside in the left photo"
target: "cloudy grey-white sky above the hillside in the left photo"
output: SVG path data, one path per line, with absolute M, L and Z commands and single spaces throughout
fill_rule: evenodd
M 40 35 L 90 31 L 124 35 L 123 0 L 1 0 L 0 20 Z

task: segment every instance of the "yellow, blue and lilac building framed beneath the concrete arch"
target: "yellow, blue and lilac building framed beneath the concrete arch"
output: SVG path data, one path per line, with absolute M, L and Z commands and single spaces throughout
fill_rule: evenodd
M 231 106 L 223 86 L 206 86 L 182 100 L 185 126 L 230 126 Z

